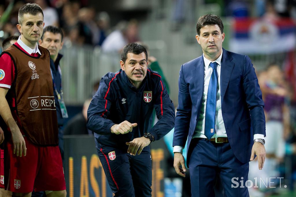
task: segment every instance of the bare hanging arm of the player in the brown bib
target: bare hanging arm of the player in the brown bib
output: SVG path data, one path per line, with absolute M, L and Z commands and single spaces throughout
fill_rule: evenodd
M 13 142 L 13 154 L 16 154 L 16 156 L 26 156 L 27 148 L 25 139 L 22 136 L 22 133 L 20 132 L 19 127 L 17 126 L 17 123 L 12 117 L 9 105 L 7 103 L 7 100 L 5 98 L 6 94 L 8 92 L 7 88 L 0 88 L 0 115 L 2 116 L 3 120 L 11 130 L 11 136 L 12 136 L 12 142 Z

